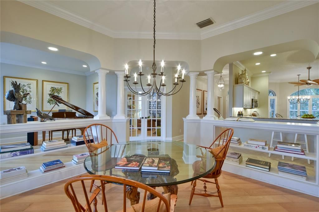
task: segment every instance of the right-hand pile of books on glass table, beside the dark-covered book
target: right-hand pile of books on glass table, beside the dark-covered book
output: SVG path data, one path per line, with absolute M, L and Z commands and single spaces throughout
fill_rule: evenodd
M 171 158 L 146 158 L 141 172 L 169 174 L 171 172 Z

